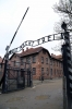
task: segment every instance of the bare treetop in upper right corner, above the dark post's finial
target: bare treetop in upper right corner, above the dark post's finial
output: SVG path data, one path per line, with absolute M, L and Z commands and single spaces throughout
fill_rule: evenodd
M 60 0 L 53 5 L 55 12 L 61 16 L 61 22 L 65 21 L 68 26 L 72 28 L 72 0 Z

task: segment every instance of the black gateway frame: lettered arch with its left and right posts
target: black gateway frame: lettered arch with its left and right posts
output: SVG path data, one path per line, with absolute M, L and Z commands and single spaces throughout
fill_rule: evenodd
M 61 27 L 64 29 L 64 33 L 48 35 L 37 40 L 26 40 L 20 47 L 14 48 L 10 51 L 9 51 L 9 46 L 7 46 L 7 49 L 5 49 L 7 53 L 4 57 L 5 63 L 4 63 L 4 73 L 3 73 L 3 85 L 2 85 L 3 93 L 7 92 L 7 83 L 8 83 L 7 64 L 9 61 L 9 55 L 19 52 L 26 46 L 35 47 L 44 43 L 64 39 L 65 44 L 62 45 L 62 48 L 61 48 L 62 58 L 63 58 L 63 72 L 64 72 L 63 73 L 63 109 L 72 109 L 72 63 L 71 63 L 70 35 L 69 35 L 69 31 L 67 29 L 67 24 L 64 22 L 62 23 Z M 29 80 L 31 80 L 31 83 L 33 83 L 32 77 Z M 65 104 L 65 107 L 64 107 L 64 104 Z

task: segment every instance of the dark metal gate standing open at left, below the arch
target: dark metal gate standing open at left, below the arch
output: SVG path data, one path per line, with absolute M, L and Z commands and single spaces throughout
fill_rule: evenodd
M 2 84 L 2 93 L 17 90 L 17 89 L 32 86 L 32 80 L 31 80 L 32 78 L 32 72 L 31 72 L 32 68 L 29 66 L 31 66 L 29 63 L 26 63 L 26 62 L 24 62 L 23 68 L 21 65 L 12 66 L 7 63 L 5 75 L 4 75 L 4 80 Z

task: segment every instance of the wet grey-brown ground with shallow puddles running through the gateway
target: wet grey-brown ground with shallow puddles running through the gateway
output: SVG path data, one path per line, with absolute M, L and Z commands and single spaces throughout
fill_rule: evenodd
M 35 82 L 33 87 L 0 94 L 0 109 L 63 109 L 62 78 Z

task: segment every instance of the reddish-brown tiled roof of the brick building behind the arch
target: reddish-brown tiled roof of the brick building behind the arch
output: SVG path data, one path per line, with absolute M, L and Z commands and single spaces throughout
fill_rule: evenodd
M 49 53 L 49 51 L 46 49 L 46 48 L 44 48 L 44 47 L 37 47 L 37 48 L 26 48 L 26 50 L 24 51 L 24 49 L 22 50 L 22 52 L 21 53 L 13 53 L 12 56 L 11 56 L 11 58 L 10 58 L 10 60 L 12 59 L 12 57 L 14 56 L 14 55 L 16 55 L 19 58 L 23 58 L 23 57 L 27 57 L 27 56 L 31 56 L 31 55 L 35 55 L 35 53 L 38 53 L 38 52 L 40 52 L 41 50 L 46 50 L 47 52 L 48 52 L 48 55 L 49 55 L 49 57 L 50 58 L 52 58 L 52 59 L 56 59 L 56 60 L 60 60 L 61 61 L 61 59 L 62 59 L 62 56 L 61 55 L 59 55 L 59 56 L 56 56 L 56 55 L 53 55 L 53 53 Z M 61 59 L 60 59 L 61 58 Z

